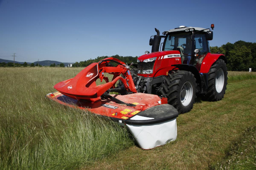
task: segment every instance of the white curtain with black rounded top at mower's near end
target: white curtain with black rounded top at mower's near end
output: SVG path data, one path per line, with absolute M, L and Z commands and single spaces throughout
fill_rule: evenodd
M 126 126 L 143 149 L 152 149 L 177 138 L 177 110 L 168 104 L 157 105 L 127 119 Z

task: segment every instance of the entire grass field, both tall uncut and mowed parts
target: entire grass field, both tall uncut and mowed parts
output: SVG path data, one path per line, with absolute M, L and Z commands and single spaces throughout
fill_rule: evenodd
M 125 128 L 45 99 L 82 68 L 0 68 L 0 169 L 256 169 L 256 73 L 229 72 L 224 99 L 177 118 L 142 150 Z

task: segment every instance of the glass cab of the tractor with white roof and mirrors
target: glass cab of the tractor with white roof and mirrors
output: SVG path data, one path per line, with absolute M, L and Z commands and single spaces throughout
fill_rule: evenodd
M 214 24 L 211 25 L 214 28 Z M 180 26 L 179 28 L 164 31 L 163 36 L 159 35 L 151 38 L 149 45 L 152 45 L 152 51 L 159 51 L 161 38 L 164 38 L 162 51 L 177 50 L 180 52 L 181 63 L 186 65 L 194 65 L 200 70 L 201 62 L 207 53 L 210 52 L 209 41 L 212 40 L 213 32 L 209 28 L 186 27 Z M 162 46 L 161 44 L 161 46 Z

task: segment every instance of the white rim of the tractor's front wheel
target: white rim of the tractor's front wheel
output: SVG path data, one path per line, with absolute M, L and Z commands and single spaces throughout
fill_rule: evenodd
M 185 82 L 180 91 L 180 102 L 183 106 L 189 105 L 193 97 L 193 88 L 190 82 Z

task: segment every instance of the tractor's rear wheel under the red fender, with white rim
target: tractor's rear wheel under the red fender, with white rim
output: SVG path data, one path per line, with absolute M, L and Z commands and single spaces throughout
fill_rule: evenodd
M 208 89 L 204 99 L 218 101 L 227 89 L 227 67 L 223 59 L 218 59 L 208 72 Z

